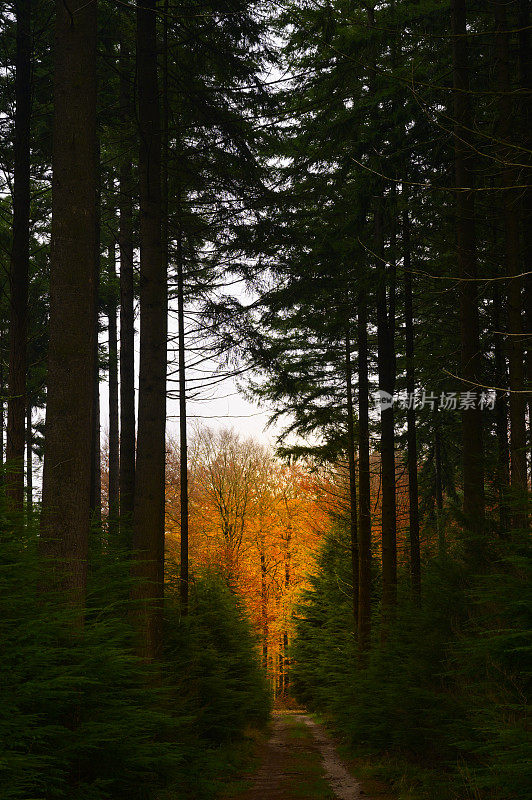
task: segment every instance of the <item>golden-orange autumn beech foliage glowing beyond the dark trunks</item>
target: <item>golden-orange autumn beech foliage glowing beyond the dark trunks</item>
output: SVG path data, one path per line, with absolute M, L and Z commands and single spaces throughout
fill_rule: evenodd
M 180 558 L 179 442 L 167 442 L 167 577 Z M 408 471 L 396 452 L 397 557 L 410 566 Z M 108 443 L 102 448 L 102 501 L 108 515 Z M 197 428 L 188 459 L 190 566 L 194 575 L 215 571 L 244 601 L 276 693 L 289 690 L 289 645 L 293 611 L 309 586 L 315 557 L 331 529 L 348 529 L 349 472 L 335 463 L 287 465 L 266 447 L 232 430 Z M 378 454 L 370 454 L 371 553 L 382 559 L 382 476 Z M 441 548 L 445 523 L 436 507 L 423 527 L 424 558 Z M 431 522 L 432 519 L 432 522 Z M 110 537 L 111 538 L 111 537 Z M 375 598 L 374 598 L 375 599 Z

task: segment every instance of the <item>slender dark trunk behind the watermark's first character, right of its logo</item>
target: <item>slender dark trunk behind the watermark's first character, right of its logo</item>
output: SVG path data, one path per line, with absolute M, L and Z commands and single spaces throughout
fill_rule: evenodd
M 405 355 L 407 462 L 408 462 L 408 529 L 410 543 L 410 580 L 416 605 L 421 604 L 421 554 L 419 545 L 419 488 L 417 477 L 417 431 L 414 393 L 416 377 L 414 370 L 414 302 L 412 293 L 412 252 L 410 245 L 410 217 L 403 210 L 403 262 L 405 291 Z M 412 402 L 410 402 L 412 401 Z

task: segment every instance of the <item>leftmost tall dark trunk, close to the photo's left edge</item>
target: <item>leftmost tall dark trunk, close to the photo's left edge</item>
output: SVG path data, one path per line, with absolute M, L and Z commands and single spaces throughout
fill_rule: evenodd
M 24 505 L 24 441 L 28 274 L 30 260 L 31 0 L 17 0 L 15 60 L 15 161 L 13 245 L 10 263 L 9 397 L 7 405 L 7 497 L 13 511 Z

